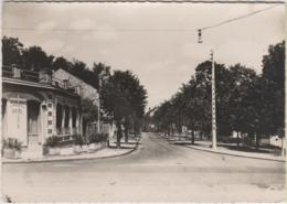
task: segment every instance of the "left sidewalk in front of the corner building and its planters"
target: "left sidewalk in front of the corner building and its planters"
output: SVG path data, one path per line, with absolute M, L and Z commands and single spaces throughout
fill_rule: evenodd
M 130 138 L 128 143 L 120 143 L 120 149 L 116 148 L 116 142 L 110 142 L 110 148 L 104 148 L 95 152 L 83 152 L 79 154 L 71 155 L 43 155 L 43 158 L 34 159 L 4 159 L 2 158 L 2 163 L 34 163 L 34 162 L 53 162 L 53 161 L 73 161 L 73 160 L 86 160 L 86 159 L 106 159 L 115 158 L 120 155 L 126 155 L 135 151 L 140 141 L 140 137 Z

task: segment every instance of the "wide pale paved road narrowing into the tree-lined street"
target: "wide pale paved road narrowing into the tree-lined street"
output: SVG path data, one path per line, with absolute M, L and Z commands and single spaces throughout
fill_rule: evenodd
M 144 133 L 129 155 L 4 164 L 3 193 L 17 202 L 280 202 L 281 162 L 221 155 Z

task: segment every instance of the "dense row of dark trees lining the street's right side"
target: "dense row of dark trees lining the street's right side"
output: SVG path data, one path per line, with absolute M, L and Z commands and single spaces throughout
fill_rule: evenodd
M 285 42 L 270 45 L 263 56 L 263 73 L 244 65 L 226 67 L 215 63 L 216 120 L 219 138 L 233 131 L 256 138 L 284 136 L 285 110 Z M 211 136 L 211 62 L 198 65 L 195 75 L 156 110 L 158 130 L 181 132 L 187 126 L 192 132 Z

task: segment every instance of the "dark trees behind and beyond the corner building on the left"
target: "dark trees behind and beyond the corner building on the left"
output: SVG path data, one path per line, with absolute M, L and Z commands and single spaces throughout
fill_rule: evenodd
M 105 110 L 102 118 L 105 115 L 106 119 L 116 122 L 118 147 L 123 137 L 123 126 L 126 141 L 130 130 L 139 132 L 147 105 L 147 90 L 132 72 L 111 73 L 110 67 L 103 63 L 94 63 L 89 68 L 82 61 L 71 62 L 63 56 L 49 55 L 40 46 L 24 47 L 19 39 L 7 36 L 2 39 L 2 56 L 6 66 L 17 64 L 35 72 L 43 68 L 50 71 L 64 68 L 98 89 L 102 108 Z M 83 99 L 82 106 L 84 124 L 95 121 L 98 116 L 93 101 Z

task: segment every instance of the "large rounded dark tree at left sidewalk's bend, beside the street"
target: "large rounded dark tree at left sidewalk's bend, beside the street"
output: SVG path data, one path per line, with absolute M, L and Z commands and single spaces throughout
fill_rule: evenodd
M 144 117 L 147 92 L 130 71 L 115 71 L 103 86 L 102 98 L 104 109 L 116 121 L 117 146 L 120 147 L 121 126 L 125 126 L 127 142 L 131 121 Z

